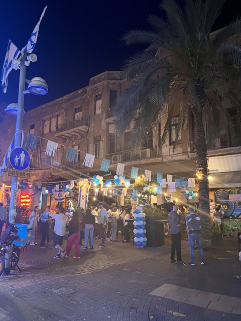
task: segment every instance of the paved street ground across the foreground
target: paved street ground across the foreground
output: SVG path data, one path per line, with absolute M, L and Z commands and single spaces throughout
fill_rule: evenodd
M 79 260 L 55 260 L 51 246 L 29 246 L 21 253 L 22 271 L 0 278 L 0 319 L 241 320 L 235 307 L 241 283 L 233 277 L 241 274 L 236 240 L 223 238 L 222 246 L 205 252 L 205 266 L 196 253 L 194 267 L 171 264 L 170 238 L 165 242 L 137 249 L 121 239 L 105 242 L 104 248 L 95 241 L 94 250 L 82 250 Z M 182 257 L 189 261 L 187 241 Z M 207 295 L 211 306 L 203 307 Z

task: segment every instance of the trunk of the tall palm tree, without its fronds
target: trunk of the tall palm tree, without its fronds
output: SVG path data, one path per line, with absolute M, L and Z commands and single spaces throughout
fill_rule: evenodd
M 209 187 L 208 187 L 208 171 L 207 171 L 207 145 L 205 140 L 205 132 L 202 122 L 202 113 L 192 108 L 194 117 L 194 148 L 197 155 L 196 171 L 201 179 L 198 180 L 199 207 L 201 217 L 201 233 L 202 244 L 204 248 L 210 248 L 210 207 L 209 207 Z

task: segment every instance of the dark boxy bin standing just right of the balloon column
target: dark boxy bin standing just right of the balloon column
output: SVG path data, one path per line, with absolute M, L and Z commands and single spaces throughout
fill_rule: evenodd
M 158 216 L 146 216 L 147 246 L 157 247 L 165 244 L 164 221 Z

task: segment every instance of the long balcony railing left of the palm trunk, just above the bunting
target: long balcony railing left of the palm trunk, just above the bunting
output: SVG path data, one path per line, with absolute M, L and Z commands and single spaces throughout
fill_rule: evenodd
M 115 152 L 105 155 L 106 158 L 114 162 L 132 162 L 140 159 L 161 157 L 160 148 L 138 148 Z

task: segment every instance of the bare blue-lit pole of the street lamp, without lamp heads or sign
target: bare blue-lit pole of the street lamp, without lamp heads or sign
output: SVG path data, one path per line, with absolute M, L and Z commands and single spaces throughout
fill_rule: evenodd
M 21 147 L 21 141 L 22 141 L 24 90 L 25 90 L 25 82 L 26 82 L 26 65 L 25 65 L 26 57 L 27 57 L 27 54 L 24 54 L 24 56 L 21 59 L 21 67 L 20 67 L 18 109 L 17 109 L 17 119 L 16 119 L 15 145 L 14 145 L 15 148 Z M 15 223 L 17 193 L 18 193 L 18 178 L 12 177 L 11 200 L 10 200 L 10 208 L 9 208 L 10 223 Z M 4 275 L 11 274 L 12 250 L 13 250 L 13 246 L 6 247 Z

